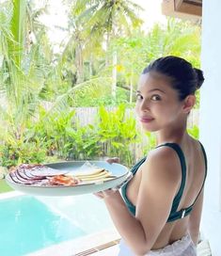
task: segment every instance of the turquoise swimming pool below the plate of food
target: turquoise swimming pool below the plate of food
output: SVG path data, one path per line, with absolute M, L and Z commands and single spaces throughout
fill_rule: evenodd
M 113 227 L 101 200 L 18 196 L 0 200 L 0 255 L 22 256 Z

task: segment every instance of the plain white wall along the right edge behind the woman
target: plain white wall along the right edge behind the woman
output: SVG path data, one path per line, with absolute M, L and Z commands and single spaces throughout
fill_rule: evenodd
M 213 256 L 221 255 L 221 1 L 203 0 L 202 70 L 205 83 L 201 88 L 199 114 L 200 140 L 208 154 L 208 178 L 202 231 L 209 238 Z

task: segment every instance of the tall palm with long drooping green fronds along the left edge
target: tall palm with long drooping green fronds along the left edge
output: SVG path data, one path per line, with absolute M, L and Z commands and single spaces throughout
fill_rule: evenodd
M 28 23 L 29 2 L 13 0 L 0 5 L 0 140 L 19 148 L 26 139 L 27 123 L 38 110 L 45 65 L 39 45 L 29 40 L 34 27 Z

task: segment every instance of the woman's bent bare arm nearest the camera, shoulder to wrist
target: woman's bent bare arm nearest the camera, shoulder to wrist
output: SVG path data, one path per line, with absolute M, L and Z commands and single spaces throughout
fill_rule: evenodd
M 150 153 L 142 166 L 136 216 L 130 214 L 119 192 L 103 192 L 118 232 L 136 255 L 146 254 L 166 225 L 181 177 L 181 164 L 176 152 L 161 148 Z

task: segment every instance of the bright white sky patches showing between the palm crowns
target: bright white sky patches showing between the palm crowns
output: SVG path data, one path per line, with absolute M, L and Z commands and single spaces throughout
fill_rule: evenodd
M 162 0 L 132 1 L 144 8 L 144 11 L 140 14 L 141 18 L 145 22 L 143 24 L 144 30 L 148 31 L 154 23 L 166 23 L 166 17 L 161 13 Z M 41 0 L 39 1 L 39 3 L 40 2 L 42 3 L 43 1 Z M 62 5 L 62 0 L 49 0 L 49 4 L 49 13 L 47 15 L 43 15 L 40 18 L 40 21 L 48 26 L 49 38 L 52 42 L 54 42 L 55 45 L 57 45 L 58 49 L 58 45 L 61 43 L 62 40 L 66 39 L 67 35 L 60 29 L 57 29 L 57 26 L 67 27 L 68 17 L 66 15 L 66 9 L 64 5 Z

